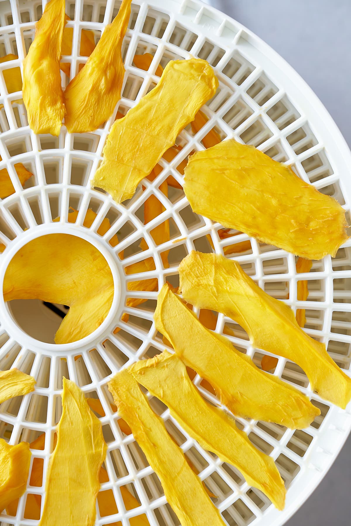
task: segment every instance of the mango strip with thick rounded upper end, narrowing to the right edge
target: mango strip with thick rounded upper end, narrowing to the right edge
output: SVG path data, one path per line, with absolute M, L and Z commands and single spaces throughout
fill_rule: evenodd
M 183 297 L 192 305 L 223 312 L 245 329 L 254 347 L 297 363 L 319 396 L 346 407 L 351 378 L 324 343 L 298 326 L 292 309 L 266 294 L 236 261 L 192 251 L 181 262 L 179 276 Z

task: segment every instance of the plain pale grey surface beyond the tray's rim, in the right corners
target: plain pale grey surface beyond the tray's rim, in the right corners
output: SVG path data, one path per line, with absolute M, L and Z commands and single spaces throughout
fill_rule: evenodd
M 260 36 L 306 80 L 351 147 L 351 0 L 207 0 Z M 286 526 L 351 524 L 351 437 Z

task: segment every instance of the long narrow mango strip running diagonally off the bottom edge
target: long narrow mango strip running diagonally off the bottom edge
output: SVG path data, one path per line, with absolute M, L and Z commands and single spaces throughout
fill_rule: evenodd
M 160 417 L 149 406 L 133 376 L 123 370 L 108 384 L 119 415 L 128 423 L 151 468 L 157 473 L 166 499 L 181 524 L 222 525 L 219 511 L 173 442 Z

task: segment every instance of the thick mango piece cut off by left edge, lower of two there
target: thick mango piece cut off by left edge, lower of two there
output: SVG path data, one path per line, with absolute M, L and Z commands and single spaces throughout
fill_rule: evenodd
M 26 490 L 30 451 L 27 442 L 10 446 L 0 438 L 0 513 Z

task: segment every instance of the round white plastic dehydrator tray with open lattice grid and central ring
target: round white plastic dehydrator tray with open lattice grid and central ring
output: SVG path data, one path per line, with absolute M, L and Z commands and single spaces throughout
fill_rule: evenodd
M 26 50 L 34 38 L 35 22 L 46 2 L 5 0 L 0 2 L 0 56 L 18 55 L 17 60 L 0 64 L 0 169 L 7 168 L 16 193 L 0 203 L 0 242 L 6 245 L 0 255 L 0 287 L 15 252 L 29 240 L 53 232 L 65 232 L 88 240 L 105 256 L 115 280 L 115 297 L 108 317 L 90 336 L 69 345 L 54 345 L 54 333 L 61 318 L 39 301 L 17 300 L 5 304 L 0 297 L 0 369 L 17 367 L 37 380 L 34 393 L 15 398 L 0 406 L 0 437 L 11 444 L 33 441 L 45 432 L 45 449 L 33 450 L 33 457 L 44 459 L 43 487 L 30 487 L 19 500 L 16 517 L 0 515 L 3 525 L 34 525 L 37 521 L 24 517 L 28 493 L 43 495 L 45 472 L 53 446 L 55 426 L 60 418 L 62 377 L 74 380 L 92 398 L 99 398 L 106 416 L 101 418 L 108 443 L 106 469 L 109 482 L 101 491 L 112 489 L 119 513 L 100 518 L 96 524 L 120 521 L 123 526 L 135 515 L 146 513 L 152 526 L 179 524 L 164 498 L 160 483 L 149 467 L 132 436 L 125 436 L 112 413 L 107 380 L 120 367 L 164 349 L 154 329 L 152 316 L 157 292 L 127 292 L 129 280 L 157 277 L 159 288 L 167 279 L 178 285 L 178 264 L 192 249 L 210 251 L 208 234 L 216 252 L 233 244 L 233 238 L 220 240 L 220 225 L 192 213 L 182 190 L 169 187 L 169 196 L 159 190 L 170 174 L 180 183 L 177 170 L 180 161 L 192 151 L 203 149 L 204 135 L 215 127 L 224 139 L 234 137 L 253 144 L 276 160 L 292 164 L 298 175 L 323 193 L 332 195 L 349 209 L 351 155 L 333 120 L 303 80 L 269 46 L 215 9 L 198 0 L 133 0 L 129 29 L 123 43 L 126 68 L 122 97 L 104 127 L 88 134 L 68 134 L 65 126 L 58 138 L 35 135 L 29 129 L 26 110 L 18 101 L 20 92 L 7 93 L 2 72 L 20 67 Z M 116 15 L 120 2 L 100 0 L 66 1 L 66 12 L 74 28 L 73 54 L 64 57 L 71 65 L 71 78 L 79 64 L 82 28 L 95 32 L 96 41 L 104 27 Z M 135 54 L 154 55 L 147 72 L 133 66 Z M 152 181 L 143 181 L 135 196 L 123 205 L 116 205 L 102 191 L 90 188 L 89 180 L 101 160 L 102 148 L 117 110 L 126 113 L 157 82 L 157 65 L 164 66 L 174 58 L 199 56 L 215 69 L 220 86 L 203 108 L 209 121 L 194 135 L 191 127 L 182 131 L 178 144 L 183 146 L 177 157 L 167 163 L 161 160 L 162 173 Z M 63 84 L 68 83 L 61 73 Z M 23 163 L 34 176 L 25 189 L 20 185 L 15 163 Z M 156 219 L 143 225 L 143 203 L 154 194 L 165 210 Z M 69 207 L 79 210 L 75 224 L 68 224 Z M 91 228 L 82 226 L 86 210 L 92 208 L 97 217 Z M 60 221 L 53 219 L 60 216 Z M 109 218 L 111 228 L 103 237 L 97 234 L 101 221 Z M 157 224 L 170 218 L 171 240 L 155 246 L 150 235 Z M 113 248 L 109 239 L 118 232 L 120 243 Z M 141 252 L 145 239 L 149 247 Z M 241 234 L 235 241 L 248 239 Z M 333 359 L 350 371 L 351 352 L 351 242 L 340 248 L 335 258 L 314 261 L 309 274 L 296 275 L 295 257 L 276 247 L 261 245 L 254 239 L 251 250 L 235 257 L 246 272 L 272 296 L 283 299 L 293 309 L 306 309 L 306 332 L 324 341 Z M 125 259 L 118 253 L 125 250 Z M 161 252 L 170 250 L 170 268 L 163 268 Z M 125 267 L 132 262 L 153 257 L 156 270 L 127 276 Z M 49 264 L 49 262 L 48 262 Z M 296 282 L 308 280 L 307 301 L 296 300 Z M 286 298 L 287 293 L 290 297 Z M 147 298 L 138 308 L 126 307 L 127 297 Z M 29 306 L 29 307 L 28 307 Z M 59 309 L 63 307 L 58 306 Z M 128 323 L 121 321 L 124 312 Z M 247 335 L 232 320 L 218 316 L 216 331 L 230 324 L 235 337 L 232 342 L 260 365 L 263 351 L 250 345 Z M 122 330 L 116 335 L 116 326 Z M 77 359 L 77 356 L 79 358 Z M 76 358 L 76 359 L 75 359 Z M 309 388 L 303 371 L 294 363 L 280 358 L 274 374 L 291 382 L 313 400 L 321 416 L 304 431 L 288 430 L 276 424 L 237 419 L 249 433 L 253 443 L 270 454 L 286 481 L 287 499 L 283 512 L 274 509 L 260 491 L 250 488 L 243 477 L 213 454 L 203 451 L 187 433 L 179 428 L 169 411 L 152 399 L 153 408 L 162 415 L 174 438 L 187 451 L 200 471 L 200 478 L 218 495 L 214 499 L 225 523 L 245 526 L 277 526 L 302 504 L 324 477 L 351 428 L 351 406 L 343 411 L 319 399 Z M 218 401 L 201 385 L 194 383 L 203 396 Z M 140 501 L 140 507 L 126 511 L 120 487 L 126 485 Z M 44 499 L 42 498 L 42 506 Z

